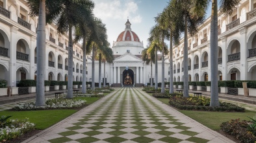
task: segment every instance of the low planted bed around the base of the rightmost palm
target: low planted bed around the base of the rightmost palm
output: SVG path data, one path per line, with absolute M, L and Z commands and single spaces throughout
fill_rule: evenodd
M 199 110 L 199 111 L 228 111 L 228 112 L 244 112 L 243 107 L 227 102 L 220 102 L 219 107 L 210 107 L 210 98 L 191 97 L 184 98 L 181 96 L 171 96 L 169 104 L 182 110 Z

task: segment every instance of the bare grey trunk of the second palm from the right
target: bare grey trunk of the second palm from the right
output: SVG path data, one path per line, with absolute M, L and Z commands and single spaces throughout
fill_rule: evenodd
M 184 89 L 183 96 L 189 97 L 188 95 L 188 23 L 185 18 L 185 32 L 184 32 Z

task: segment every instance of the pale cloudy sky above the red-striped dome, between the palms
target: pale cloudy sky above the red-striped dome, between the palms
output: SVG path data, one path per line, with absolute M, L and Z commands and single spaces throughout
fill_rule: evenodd
M 131 29 L 146 47 L 149 30 L 155 25 L 154 17 L 168 5 L 168 0 L 94 0 L 94 3 L 94 14 L 105 23 L 111 47 L 125 29 L 127 17 Z

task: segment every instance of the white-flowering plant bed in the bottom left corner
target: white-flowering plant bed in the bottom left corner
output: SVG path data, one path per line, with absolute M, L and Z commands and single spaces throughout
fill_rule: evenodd
M 18 138 L 34 129 L 34 124 L 29 122 L 28 118 L 23 120 L 7 120 L 10 116 L 1 116 L 0 118 L 0 142 Z

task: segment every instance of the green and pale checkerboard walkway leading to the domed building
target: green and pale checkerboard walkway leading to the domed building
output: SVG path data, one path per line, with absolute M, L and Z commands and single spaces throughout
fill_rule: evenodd
M 24 142 L 233 142 L 139 88 L 121 88 Z

